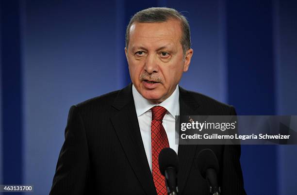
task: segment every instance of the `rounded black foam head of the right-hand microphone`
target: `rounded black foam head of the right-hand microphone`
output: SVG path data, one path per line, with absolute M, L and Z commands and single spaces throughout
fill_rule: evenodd
M 214 169 L 216 174 L 219 172 L 217 158 L 214 154 L 214 151 L 209 148 L 203 149 L 198 153 L 197 166 L 200 170 L 201 176 L 204 179 L 206 178 L 206 170 L 209 168 Z

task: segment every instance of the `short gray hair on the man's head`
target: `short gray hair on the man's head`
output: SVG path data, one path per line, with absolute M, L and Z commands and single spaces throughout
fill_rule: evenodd
M 154 22 L 165 22 L 169 19 L 177 19 L 181 21 L 181 46 L 183 50 L 183 55 L 186 51 L 191 48 L 191 36 L 190 36 L 190 26 L 181 13 L 172 8 L 167 7 L 151 7 L 148 9 L 141 10 L 137 12 L 131 19 L 126 29 L 126 48 L 129 45 L 129 34 L 130 28 L 133 23 L 154 23 Z

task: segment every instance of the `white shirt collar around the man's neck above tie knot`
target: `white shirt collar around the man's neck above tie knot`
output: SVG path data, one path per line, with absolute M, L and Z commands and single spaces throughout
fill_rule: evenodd
M 179 85 L 176 86 L 171 96 L 169 96 L 160 104 L 153 104 L 150 101 L 148 101 L 136 90 L 134 85 L 132 85 L 132 95 L 134 98 L 137 117 L 146 113 L 149 109 L 151 109 L 154 106 L 163 106 L 173 117 L 175 117 L 175 115 L 180 114 Z

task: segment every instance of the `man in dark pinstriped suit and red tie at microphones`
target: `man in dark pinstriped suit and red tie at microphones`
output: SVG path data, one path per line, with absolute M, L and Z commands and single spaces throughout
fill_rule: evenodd
M 166 194 L 158 154 L 179 156 L 179 194 L 208 195 L 196 166 L 203 148 L 216 154 L 222 195 L 244 195 L 240 146 L 175 144 L 175 115 L 234 115 L 233 107 L 178 86 L 193 55 L 187 20 L 174 9 L 136 13 L 126 32 L 132 84 L 72 106 L 51 195 Z

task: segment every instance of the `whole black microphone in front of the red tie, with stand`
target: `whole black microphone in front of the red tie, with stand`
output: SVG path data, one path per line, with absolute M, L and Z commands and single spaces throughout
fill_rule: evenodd
M 179 172 L 179 159 L 176 152 L 165 147 L 159 154 L 159 169 L 165 177 L 168 195 L 177 195 L 177 173 Z

